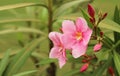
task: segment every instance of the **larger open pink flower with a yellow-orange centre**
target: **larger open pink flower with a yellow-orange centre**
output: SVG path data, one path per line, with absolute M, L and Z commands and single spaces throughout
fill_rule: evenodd
M 72 50 L 74 58 L 78 58 L 86 53 L 92 30 L 88 27 L 83 18 L 77 18 L 76 23 L 65 20 L 62 23 L 63 44 L 65 48 Z

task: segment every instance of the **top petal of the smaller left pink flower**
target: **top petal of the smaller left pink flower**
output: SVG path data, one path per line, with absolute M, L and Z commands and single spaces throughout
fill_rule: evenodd
M 58 32 L 50 32 L 49 33 L 49 38 L 52 40 L 54 45 L 59 45 L 61 44 L 60 37 L 62 36 L 61 33 Z

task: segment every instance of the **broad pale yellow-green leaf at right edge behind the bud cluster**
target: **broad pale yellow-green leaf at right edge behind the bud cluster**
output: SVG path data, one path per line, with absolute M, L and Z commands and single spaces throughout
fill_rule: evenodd
M 114 22 L 113 20 L 106 19 L 99 24 L 100 28 L 105 28 L 111 31 L 119 32 L 120 33 L 120 25 Z

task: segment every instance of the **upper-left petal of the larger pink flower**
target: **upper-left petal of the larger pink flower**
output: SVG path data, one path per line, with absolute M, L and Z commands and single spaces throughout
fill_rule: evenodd
M 62 23 L 63 33 L 73 33 L 75 31 L 75 25 L 73 21 L 64 20 Z

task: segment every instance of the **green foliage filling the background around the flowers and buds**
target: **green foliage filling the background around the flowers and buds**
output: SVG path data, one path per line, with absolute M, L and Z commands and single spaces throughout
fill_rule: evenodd
M 0 76 L 120 76 L 120 8 L 114 14 L 108 13 L 99 23 L 98 32 L 104 32 L 103 47 L 94 52 L 93 47 L 99 40 L 91 40 L 87 55 L 93 56 L 89 68 L 80 72 L 84 57 L 74 59 L 67 55 L 68 63 L 59 69 L 58 61 L 50 59 L 52 47 L 48 34 L 59 31 L 63 20 L 75 20 L 83 16 L 89 27 L 93 28 L 90 16 L 86 13 L 87 4 L 92 3 L 99 19 L 97 3 L 93 0 L 1 0 L 0 2 Z M 112 3 L 112 1 L 110 1 Z M 116 1 L 116 4 L 119 1 Z M 111 5 L 108 1 L 106 3 Z M 96 5 L 95 5 L 96 4 Z M 112 3 L 113 4 L 113 3 Z M 107 6 L 107 5 L 106 5 Z M 110 13 L 110 14 L 109 14 Z M 112 18 L 112 19 L 111 19 Z M 100 37 L 100 34 L 98 34 Z M 70 52 L 67 52 L 67 54 Z M 93 56 L 94 57 L 94 56 Z M 112 71 L 109 71 L 112 67 Z

